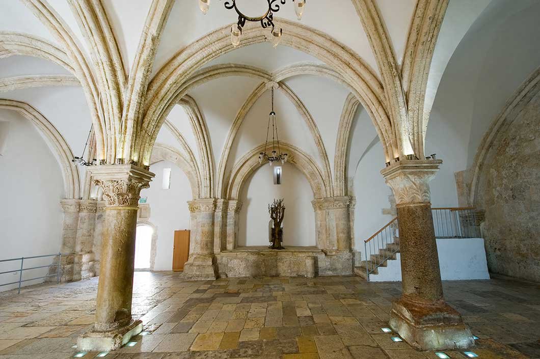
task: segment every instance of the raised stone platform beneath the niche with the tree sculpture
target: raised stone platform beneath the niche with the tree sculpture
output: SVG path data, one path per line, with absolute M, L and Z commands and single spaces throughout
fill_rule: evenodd
M 221 277 L 349 275 L 353 255 L 347 251 L 324 252 L 317 247 L 238 247 L 215 254 Z

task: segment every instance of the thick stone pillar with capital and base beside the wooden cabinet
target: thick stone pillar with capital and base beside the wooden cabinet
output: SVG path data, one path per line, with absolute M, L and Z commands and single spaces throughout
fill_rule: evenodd
M 211 280 L 217 278 L 214 256 L 214 198 L 189 201 L 191 212 L 190 256 L 184 265 L 184 279 Z

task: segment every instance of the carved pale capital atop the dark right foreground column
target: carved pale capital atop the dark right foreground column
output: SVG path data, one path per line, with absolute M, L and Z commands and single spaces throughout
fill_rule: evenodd
M 429 181 L 437 173 L 442 160 L 401 160 L 381 171 L 392 188 L 396 204 L 429 202 Z

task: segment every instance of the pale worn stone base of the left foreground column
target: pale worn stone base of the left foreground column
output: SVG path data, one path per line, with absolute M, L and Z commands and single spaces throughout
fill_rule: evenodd
M 125 343 L 143 330 L 143 322 L 133 320 L 125 327 L 111 331 L 87 331 L 77 338 L 77 349 L 83 351 L 111 351 Z

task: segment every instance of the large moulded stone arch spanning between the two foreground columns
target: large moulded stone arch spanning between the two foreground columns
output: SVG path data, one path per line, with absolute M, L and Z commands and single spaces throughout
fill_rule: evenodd
M 336 43 L 323 33 L 293 22 L 281 19 L 280 21 L 287 23 L 288 26 L 287 34 L 284 34 L 282 40 L 284 45 L 318 57 L 329 64 L 333 70 L 342 74 L 343 80 L 370 113 L 370 118 L 373 119 L 381 137 L 387 158 L 393 157 L 394 150 L 396 150 L 393 140 L 395 136 L 392 134 L 392 125 L 383 100 L 382 85 L 373 71 L 352 50 L 345 45 Z M 149 155 L 149 148 L 156 139 L 159 127 L 168 111 L 171 110 L 172 104 L 186 93 L 186 89 L 183 87 L 186 80 L 198 67 L 232 51 L 233 46 L 229 37 L 228 27 L 212 32 L 206 36 L 204 42 L 195 42 L 180 51 L 154 77 L 147 92 L 149 101 L 145 106 L 146 113 L 143 119 L 143 127 L 148 128 L 149 136 L 137 138 L 140 143 L 135 146 L 136 151 L 140 152 L 145 161 Z M 247 28 L 240 46 L 265 41 L 265 33 L 261 29 Z

